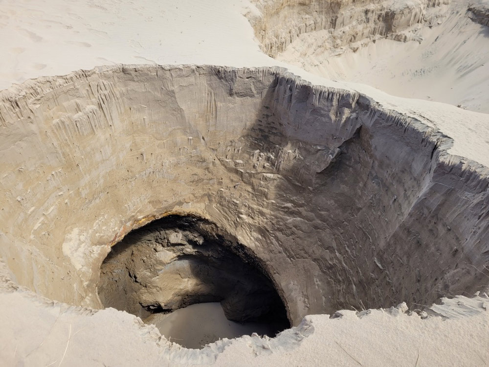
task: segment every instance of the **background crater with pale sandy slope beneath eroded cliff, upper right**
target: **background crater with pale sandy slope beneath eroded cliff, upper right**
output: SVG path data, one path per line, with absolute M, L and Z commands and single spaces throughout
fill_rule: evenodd
M 254 0 L 263 52 L 328 79 L 489 113 L 484 1 Z

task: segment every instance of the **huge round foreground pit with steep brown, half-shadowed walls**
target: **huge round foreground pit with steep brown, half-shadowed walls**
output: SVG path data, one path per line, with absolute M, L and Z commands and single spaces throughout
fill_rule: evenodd
M 0 98 L 0 255 L 45 297 L 144 316 L 211 295 L 231 319 L 280 306 L 296 325 L 488 288 L 487 169 L 365 95 L 282 69 L 123 66 Z M 218 265 L 192 271 L 204 257 Z M 178 272 L 201 287 L 114 299 L 106 275 L 131 261 L 119 289 Z

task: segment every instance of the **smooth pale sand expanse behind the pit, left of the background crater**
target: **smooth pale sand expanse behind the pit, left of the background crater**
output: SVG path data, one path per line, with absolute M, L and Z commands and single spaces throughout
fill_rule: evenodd
M 0 6 L 0 89 L 97 65 L 276 63 L 254 41 L 240 0 L 3 0 Z

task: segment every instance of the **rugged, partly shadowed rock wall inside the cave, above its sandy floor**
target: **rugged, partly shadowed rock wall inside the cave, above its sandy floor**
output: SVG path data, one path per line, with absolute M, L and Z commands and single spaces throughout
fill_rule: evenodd
M 229 237 L 229 236 L 228 236 Z M 170 215 L 128 234 L 101 267 L 102 304 L 144 319 L 194 303 L 221 302 L 228 320 L 278 321 L 287 312 L 247 249 L 208 221 Z

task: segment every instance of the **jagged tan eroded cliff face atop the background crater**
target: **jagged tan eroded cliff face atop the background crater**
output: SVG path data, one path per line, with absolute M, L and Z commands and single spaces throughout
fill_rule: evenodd
M 326 31 L 321 48 L 338 49 L 387 37 L 409 40 L 409 27 L 428 21 L 425 10 L 446 0 L 350 1 L 256 0 L 260 15 L 248 14 L 262 49 L 271 57 L 285 51 L 301 34 Z M 313 50 L 310 49 L 310 52 Z

